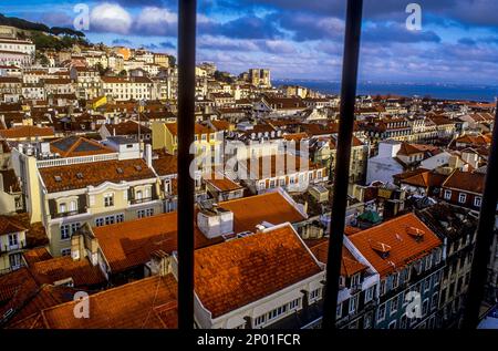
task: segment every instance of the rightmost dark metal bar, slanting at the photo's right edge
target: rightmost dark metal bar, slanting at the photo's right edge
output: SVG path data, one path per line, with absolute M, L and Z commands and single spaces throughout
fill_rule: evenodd
M 495 235 L 495 216 L 498 202 L 498 101 L 492 128 L 491 151 L 486 172 L 485 190 L 480 207 L 479 224 L 476 234 L 470 282 L 464 312 L 464 329 L 476 329 L 479 323 L 479 311 L 485 298 L 486 278 L 490 259 L 490 247 Z

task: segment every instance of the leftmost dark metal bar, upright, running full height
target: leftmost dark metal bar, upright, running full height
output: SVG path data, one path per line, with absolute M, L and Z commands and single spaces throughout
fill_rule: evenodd
M 178 1 L 178 327 L 194 328 L 194 159 L 196 0 Z

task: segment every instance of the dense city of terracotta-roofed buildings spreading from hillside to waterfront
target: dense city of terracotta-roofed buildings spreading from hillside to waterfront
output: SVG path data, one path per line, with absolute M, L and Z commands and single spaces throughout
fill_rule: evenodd
M 0 14 L 1 329 L 179 327 L 178 56 L 95 35 Z M 221 65 L 195 66 L 193 328 L 321 329 L 340 89 Z M 356 95 L 335 328 L 463 328 L 497 142 L 485 86 Z

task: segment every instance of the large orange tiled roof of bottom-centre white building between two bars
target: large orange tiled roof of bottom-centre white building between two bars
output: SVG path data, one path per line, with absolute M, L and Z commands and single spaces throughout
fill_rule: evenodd
M 320 273 L 288 224 L 195 252 L 195 289 L 212 318 Z

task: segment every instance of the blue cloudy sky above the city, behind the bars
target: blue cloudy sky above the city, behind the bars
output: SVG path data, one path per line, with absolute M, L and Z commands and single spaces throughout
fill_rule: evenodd
M 416 2 L 421 30 L 408 30 Z M 177 0 L 2 0 L 0 12 L 73 28 L 90 9 L 92 42 L 176 54 Z M 359 79 L 375 83 L 498 85 L 498 1 L 364 0 Z M 197 60 L 238 74 L 339 81 L 345 0 L 198 0 Z

